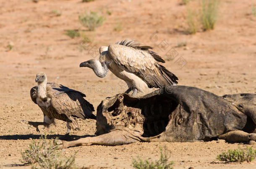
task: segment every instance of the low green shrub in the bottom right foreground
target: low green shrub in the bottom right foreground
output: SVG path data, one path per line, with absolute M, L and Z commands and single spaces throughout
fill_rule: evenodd
M 256 149 L 252 147 L 247 147 L 246 150 L 241 150 L 240 148 L 234 150 L 228 150 L 222 154 L 217 155 L 219 161 L 226 162 L 243 162 L 252 161 L 256 157 Z

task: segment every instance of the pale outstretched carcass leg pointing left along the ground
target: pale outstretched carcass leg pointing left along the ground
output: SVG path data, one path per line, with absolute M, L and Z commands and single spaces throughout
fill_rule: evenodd
M 127 131 L 111 131 L 107 134 L 102 134 L 99 136 L 85 137 L 74 141 L 63 141 L 57 140 L 59 149 L 65 149 L 70 146 L 89 146 L 89 145 L 106 145 L 115 146 L 122 144 L 131 144 L 140 141 L 136 136 L 128 133 Z

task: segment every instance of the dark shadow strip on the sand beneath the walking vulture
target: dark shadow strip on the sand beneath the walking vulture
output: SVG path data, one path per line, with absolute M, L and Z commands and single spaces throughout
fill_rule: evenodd
M 70 135 L 65 139 L 66 141 L 73 141 L 85 137 L 94 137 L 95 135 L 84 135 L 84 136 L 77 136 L 77 135 Z M 44 135 L 34 135 L 34 134 L 14 134 L 14 135 L 3 135 L 0 136 L 0 140 L 29 140 L 29 139 L 40 139 L 43 138 Z M 61 139 L 63 135 L 60 134 L 49 134 L 46 136 L 46 139 Z

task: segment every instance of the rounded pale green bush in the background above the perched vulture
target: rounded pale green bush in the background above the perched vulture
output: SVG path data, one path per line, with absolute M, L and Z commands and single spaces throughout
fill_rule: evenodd
M 95 30 L 95 28 L 102 25 L 105 18 L 103 16 L 98 15 L 97 12 L 84 12 L 82 15 L 79 15 L 79 20 L 81 24 L 87 27 L 89 30 Z

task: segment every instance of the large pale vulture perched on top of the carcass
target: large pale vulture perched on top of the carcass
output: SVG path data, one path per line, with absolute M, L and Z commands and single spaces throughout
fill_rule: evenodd
M 99 48 L 99 60 L 91 59 L 80 64 L 89 67 L 94 73 L 104 78 L 110 70 L 128 85 L 125 93 L 145 92 L 148 88 L 163 88 L 176 85 L 178 78 L 158 62 L 164 59 L 152 51 L 150 46 L 143 46 L 134 40 L 125 39 L 115 44 Z

